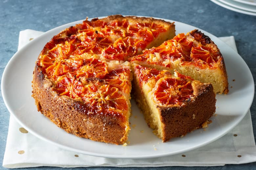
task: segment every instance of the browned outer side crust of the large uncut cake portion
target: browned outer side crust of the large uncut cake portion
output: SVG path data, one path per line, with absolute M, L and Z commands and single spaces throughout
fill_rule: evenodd
M 32 97 L 37 110 L 41 111 L 58 127 L 76 136 L 93 141 L 124 144 L 128 138 L 129 125 L 119 117 L 88 114 L 80 100 L 59 96 L 53 91 L 52 83 L 39 67 L 35 67 L 32 81 Z

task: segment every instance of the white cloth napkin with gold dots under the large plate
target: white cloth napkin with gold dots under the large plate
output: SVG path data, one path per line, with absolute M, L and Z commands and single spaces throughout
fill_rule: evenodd
M 21 31 L 18 49 L 42 33 L 29 29 Z M 237 50 L 233 36 L 220 37 L 220 39 Z M 186 153 L 151 159 L 109 159 L 64 150 L 36 138 L 22 128 L 11 115 L 3 166 L 6 168 L 218 166 L 254 161 L 256 161 L 256 146 L 250 111 L 239 125 L 211 144 Z

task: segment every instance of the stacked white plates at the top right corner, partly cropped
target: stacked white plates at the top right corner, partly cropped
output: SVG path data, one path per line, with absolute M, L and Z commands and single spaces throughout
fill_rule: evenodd
M 211 1 L 226 9 L 256 16 L 256 0 L 211 0 Z

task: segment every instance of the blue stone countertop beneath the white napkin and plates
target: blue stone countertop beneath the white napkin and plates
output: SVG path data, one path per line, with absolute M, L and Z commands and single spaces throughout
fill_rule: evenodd
M 24 29 L 47 31 L 54 27 L 113 14 L 152 16 L 196 26 L 211 34 L 235 37 L 238 53 L 256 77 L 256 16 L 225 9 L 209 0 L 0 0 L 0 78 L 4 68 L 17 51 L 19 32 Z M 255 96 L 255 95 L 254 95 Z M 250 108 L 256 134 L 256 100 Z M 0 93 L 0 165 L 6 146 L 10 113 Z M 255 135 L 254 135 L 255 138 Z M 117 168 L 89 167 L 83 169 L 256 169 L 256 162 L 216 167 Z M 0 169 L 6 169 L 0 166 Z M 30 169 L 60 169 L 35 167 Z M 69 168 L 67 168 L 69 169 Z M 71 168 L 70 168 L 71 169 Z M 78 168 L 75 168 L 78 169 Z

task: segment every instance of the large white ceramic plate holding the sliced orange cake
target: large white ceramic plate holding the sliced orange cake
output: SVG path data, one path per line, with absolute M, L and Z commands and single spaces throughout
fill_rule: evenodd
M 81 22 L 59 26 L 34 39 L 10 59 L 4 70 L 1 84 L 4 102 L 16 120 L 35 136 L 87 155 L 108 158 L 152 158 L 174 155 L 209 144 L 235 127 L 249 110 L 254 96 L 254 82 L 248 66 L 227 44 L 201 30 L 219 46 L 232 86 L 227 95 L 217 95 L 217 116 L 211 118 L 212 123 L 205 131 L 197 129 L 183 138 L 174 138 L 170 142 L 162 143 L 147 126 L 132 100 L 131 131 L 128 139 L 130 144 L 127 146 L 94 142 L 65 132 L 36 110 L 34 99 L 31 97 L 32 72 L 44 44 L 64 28 Z M 175 24 L 176 34 L 198 29 L 180 22 Z

